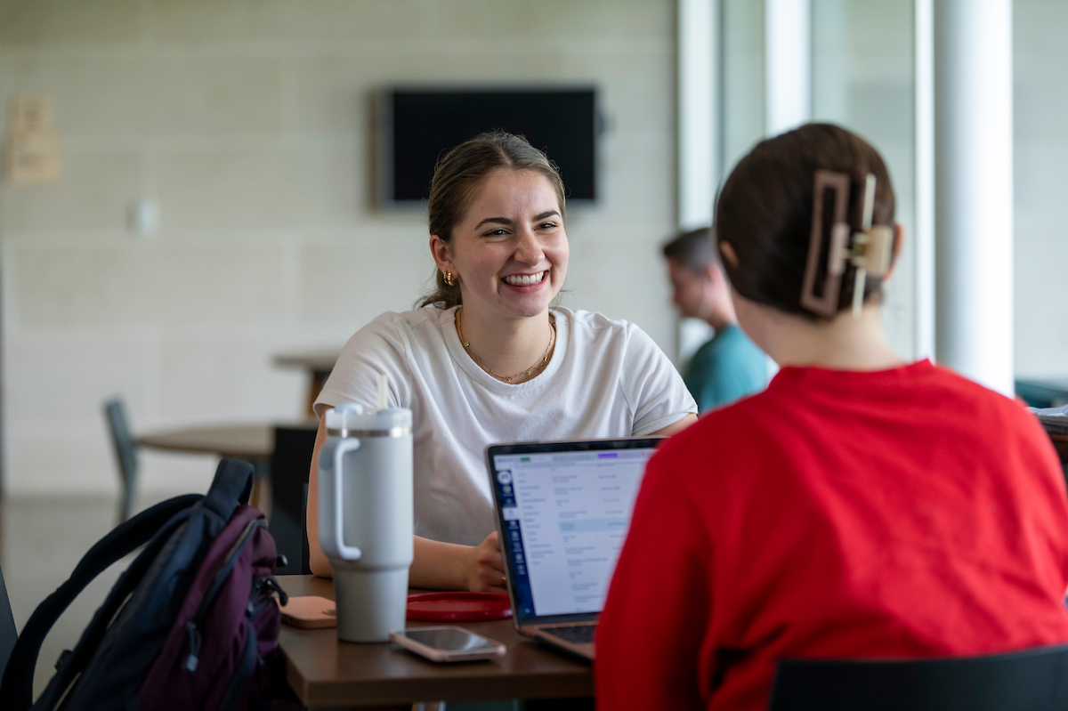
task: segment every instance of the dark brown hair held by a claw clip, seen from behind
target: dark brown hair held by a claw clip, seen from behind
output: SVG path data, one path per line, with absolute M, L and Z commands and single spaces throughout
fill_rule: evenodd
M 716 239 L 738 256 L 721 258 L 731 284 L 747 299 L 788 314 L 824 318 L 801 305 L 805 262 L 813 225 L 813 193 L 818 170 L 849 176 L 853 232 L 861 228 L 864 184 L 876 177 L 873 224 L 894 224 L 894 188 L 879 153 L 864 139 L 831 124 L 807 124 L 761 141 L 738 161 L 716 204 Z M 837 311 L 853 299 L 855 267 L 846 263 Z M 821 276 L 822 279 L 822 272 Z M 868 276 L 864 300 L 882 298 L 882 280 Z

